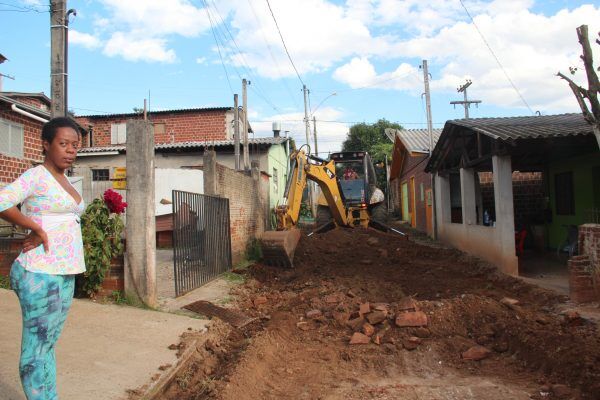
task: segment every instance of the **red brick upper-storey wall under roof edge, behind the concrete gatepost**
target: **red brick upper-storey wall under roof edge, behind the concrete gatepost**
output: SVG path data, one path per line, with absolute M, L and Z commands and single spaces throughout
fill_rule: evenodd
M 75 118 L 84 128 L 93 126 L 91 146 L 111 145 L 111 125 L 125 123 L 128 119 L 141 119 L 142 116 L 117 118 Z M 154 142 L 189 142 L 203 140 L 226 140 L 226 112 L 222 110 L 160 113 L 150 115 L 155 124 Z M 162 125 L 164 124 L 164 125 Z M 161 126 L 159 126 L 161 125 Z M 163 130 L 164 126 L 164 130 Z M 164 132 L 164 133 L 161 133 Z

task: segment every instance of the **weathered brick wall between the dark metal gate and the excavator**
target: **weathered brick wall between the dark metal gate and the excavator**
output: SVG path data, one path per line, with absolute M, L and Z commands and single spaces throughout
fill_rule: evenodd
M 212 161 L 211 161 L 212 158 Z M 214 167 L 211 168 L 211 165 Z M 248 244 L 265 230 L 268 181 L 260 177 L 258 168 L 252 175 L 227 168 L 214 161 L 214 152 L 204 158 L 204 193 L 229 199 L 231 253 L 234 264 L 242 260 Z

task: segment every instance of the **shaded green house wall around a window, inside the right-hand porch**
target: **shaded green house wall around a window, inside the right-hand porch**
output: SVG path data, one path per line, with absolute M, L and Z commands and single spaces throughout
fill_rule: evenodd
M 573 173 L 574 215 L 556 214 L 556 174 Z M 548 246 L 557 248 L 567 236 L 564 225 L 581 225 L 585 222 L 586 210 L 600 208 L 600 152 L 570 158 L 551 164 L 548 169 L 548 187 L 552 222 L 548 224 Z

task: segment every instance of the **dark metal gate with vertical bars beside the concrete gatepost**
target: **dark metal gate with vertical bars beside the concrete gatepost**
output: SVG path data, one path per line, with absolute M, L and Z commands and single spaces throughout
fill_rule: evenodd
M 173 190 L 175 295 L 231 269 L 229 199 Z

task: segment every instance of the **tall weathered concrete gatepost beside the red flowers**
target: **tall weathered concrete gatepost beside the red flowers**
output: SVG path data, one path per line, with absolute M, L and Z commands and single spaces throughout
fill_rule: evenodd
M 154 130 L 150 121 L 127 121 L 126 165 L 125 293 L 149 307 L 156 307 Z

